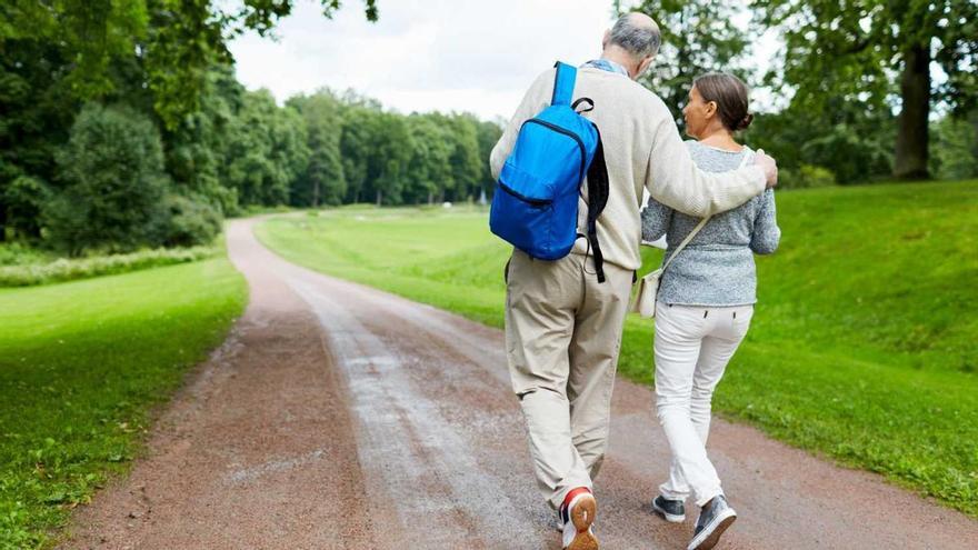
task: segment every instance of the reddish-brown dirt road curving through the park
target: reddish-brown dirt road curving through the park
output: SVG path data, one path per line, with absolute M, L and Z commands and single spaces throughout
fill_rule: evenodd
M 228 237 L 247 313 L 64 548 L 559 548 L 501 332 L 288 263 L 252 223 Z M 686 548 L 692 530 L 649 512 L 668 453 L 651 404 L 618 382 L 606 549 Z M 717 421 L 710 452 L 740 513 L 719 548 L 978 548 L 978 522 L 754 429 Z

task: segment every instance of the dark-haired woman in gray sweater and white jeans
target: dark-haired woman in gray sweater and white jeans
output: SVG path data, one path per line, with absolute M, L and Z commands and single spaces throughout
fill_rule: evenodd
M 737 169 L 754 152 L 735 139 L 754 118 L 747 87 L 730 74 L 710 73 L 693 82 L 682 109 L 696 141 L 687 146 L 703 171 Z M 642 211 L 642 239 L 663 234 L 668 260 L 701 220 L 653 199 Z M 757 276 L 754 254 L 778 247 L 780 230 L 771 190 L 716 214 L 679 251 L 661 276 L 656 308 L 656 408 L 672 451 L 669 479 L 652 508 L 668 521 L 686 519 L 692 494 L 700 507 L 689 550 L 716 546 L 737 513 L 706 452 L 713 390 L 747 334 L 754 314 Z

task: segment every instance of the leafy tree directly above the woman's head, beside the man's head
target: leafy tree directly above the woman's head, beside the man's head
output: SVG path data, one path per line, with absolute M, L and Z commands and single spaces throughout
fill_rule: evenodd
M 715 0 L 645 0 L 636 8 L 651 13 L 662 32 L 657 62 L 642 79 L 672 109 L 680 131 L 681 111 L 692 80 L 707 72 L 732 72 L 748 81 L 740 66 L 748 36 L 735 17 L 742 4 Z M 616 10 L 621 13 L 620 2 Z

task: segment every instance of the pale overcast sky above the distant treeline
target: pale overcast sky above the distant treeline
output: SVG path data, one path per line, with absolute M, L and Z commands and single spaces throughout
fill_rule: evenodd
M 380 21 L 346 0 L 333 20 L 298 0 L 278 41 L 231 43 L 238 79 L 281 102 L 321 87 L 352 88 L 387 108 L 509 118 L 522 92 L 560 59 L 600 56 L 610 0 L 379 0 Z M 655 70 L 655 66 L 653 69 Z

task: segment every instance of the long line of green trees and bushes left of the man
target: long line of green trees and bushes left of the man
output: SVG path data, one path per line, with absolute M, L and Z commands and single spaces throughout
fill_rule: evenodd
M 207 243 L 222 217 L 252 207 L 478 200 L 501 133 L 472 114 L 406 116 L 327 89 L 279 107 L 227 66 L 173 129 L 139 91 L 37 106 L 46 90 L 22 84 L 0 83 L 0 104 L 20 103 L 0 129 L 0 239 L 71 256 Z

